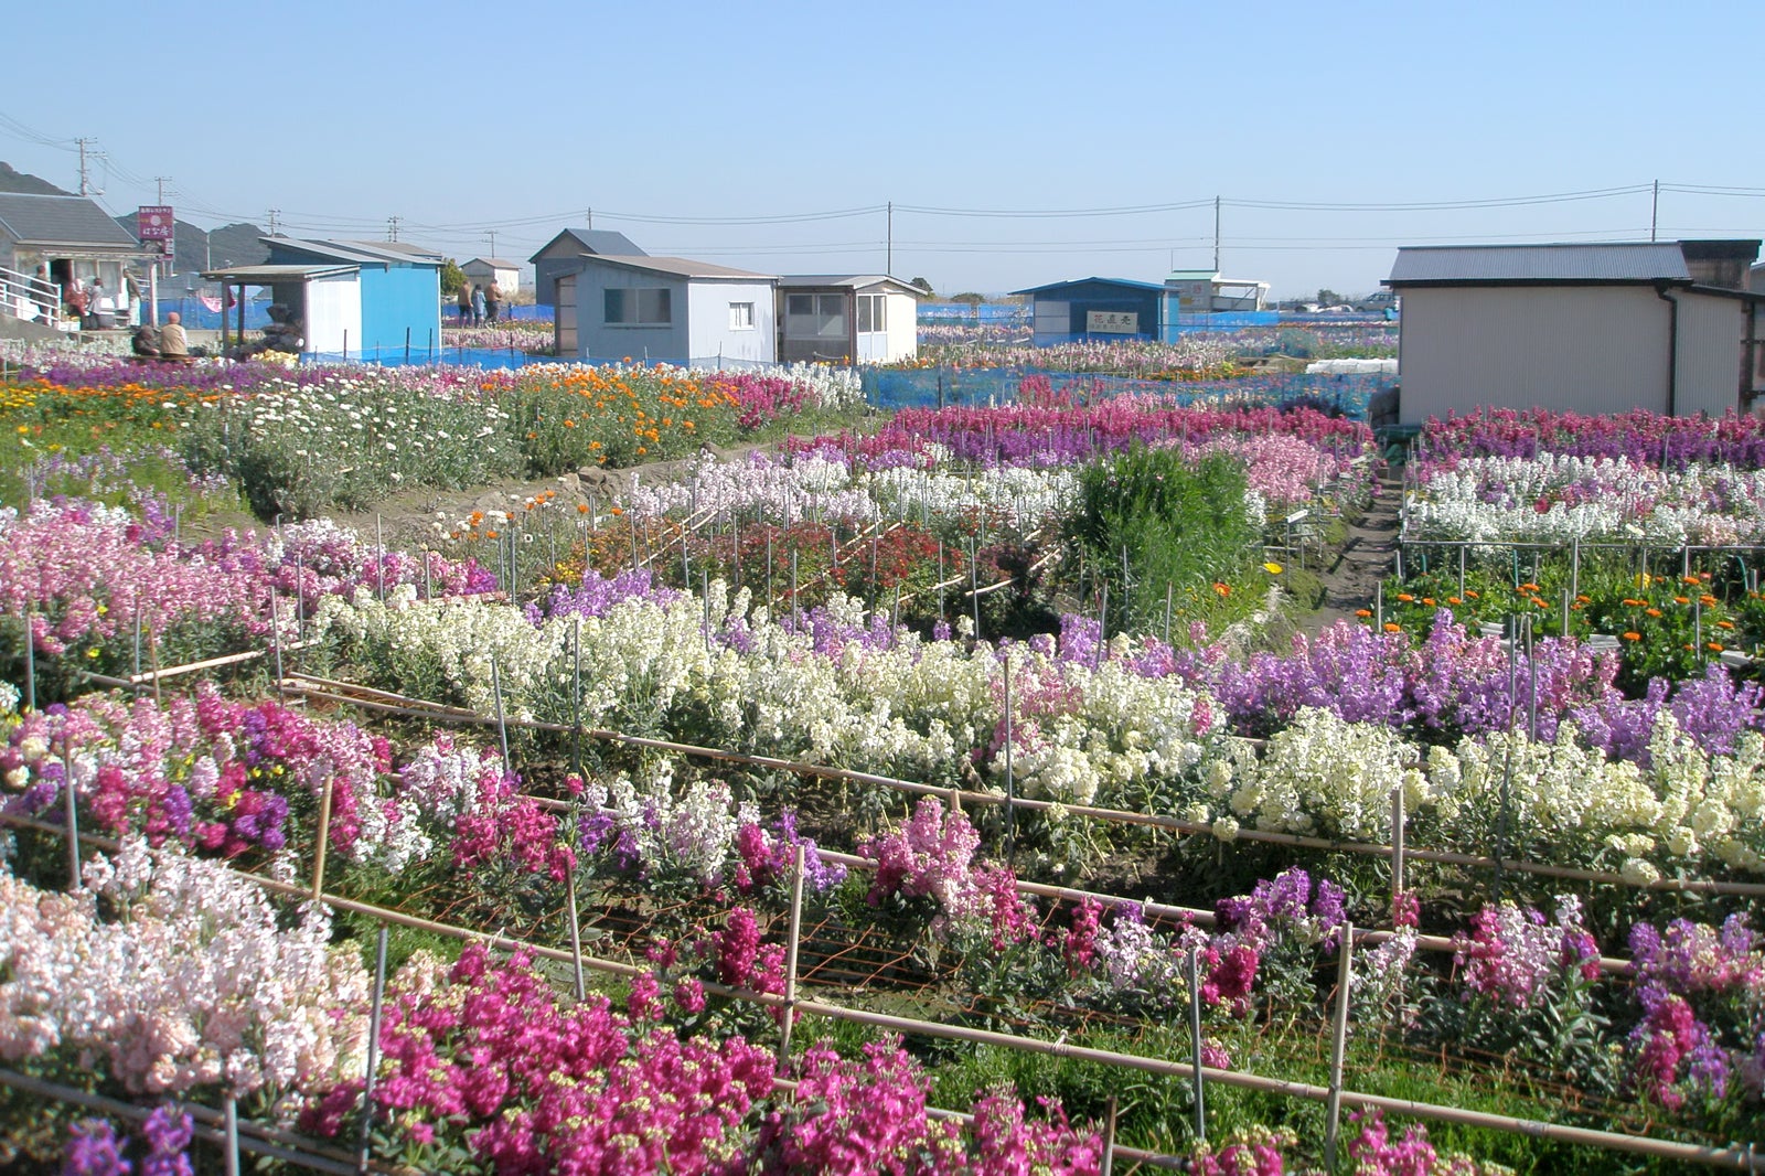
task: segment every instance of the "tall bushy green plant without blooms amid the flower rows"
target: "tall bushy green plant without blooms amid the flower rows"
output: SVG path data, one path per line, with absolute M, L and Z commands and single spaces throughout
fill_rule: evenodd
M 1174 449 L 1135 449 L 1078 473 L 1066 540 L 1108 583 L 1110 630 L 1161 627 L 1167 584 L 1243 579 L 1260 539 L 1244 489 L 1237 459 L 1209 454 L 1190 466 Z

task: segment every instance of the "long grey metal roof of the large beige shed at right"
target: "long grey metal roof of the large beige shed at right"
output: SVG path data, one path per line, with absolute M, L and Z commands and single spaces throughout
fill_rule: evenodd
M 1410 245 L 1398 249 L 1386 284 L 1652 281 L 1691 281 L 1679 242 Z

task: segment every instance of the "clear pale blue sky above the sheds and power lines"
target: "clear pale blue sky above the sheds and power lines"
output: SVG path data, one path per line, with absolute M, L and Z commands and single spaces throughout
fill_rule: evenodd
M 1221 196 L 1221 268 L 1278 297 L 1373 290 L 1400 244 L 1647 238 L 1652 180 L 1663 238 L 1765 235 L 1760 0 L 7 9 L 0 159 L 72 189 L 86 136 L 106 207 L 164 175 L 205 228 L 399 215 L 524 260 L 593 208 L 655 254 L 875 272 L 893 201 L 893 272 L 955 293 L 1211 267 Z

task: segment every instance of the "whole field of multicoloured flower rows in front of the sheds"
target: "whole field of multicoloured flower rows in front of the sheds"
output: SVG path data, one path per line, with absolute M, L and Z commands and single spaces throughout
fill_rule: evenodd
M 1753 1162 L 1751 422 L 856 397 L 0 385 L 0 1162 Z

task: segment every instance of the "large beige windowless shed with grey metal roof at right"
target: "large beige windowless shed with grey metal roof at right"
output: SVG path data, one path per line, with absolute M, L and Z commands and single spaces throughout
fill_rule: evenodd
M 1756 240 L 1417 245 L 1403 297 L 1400 424 L 1483 404 L 1671 417 L 1746 410 L 1760 381 Z

